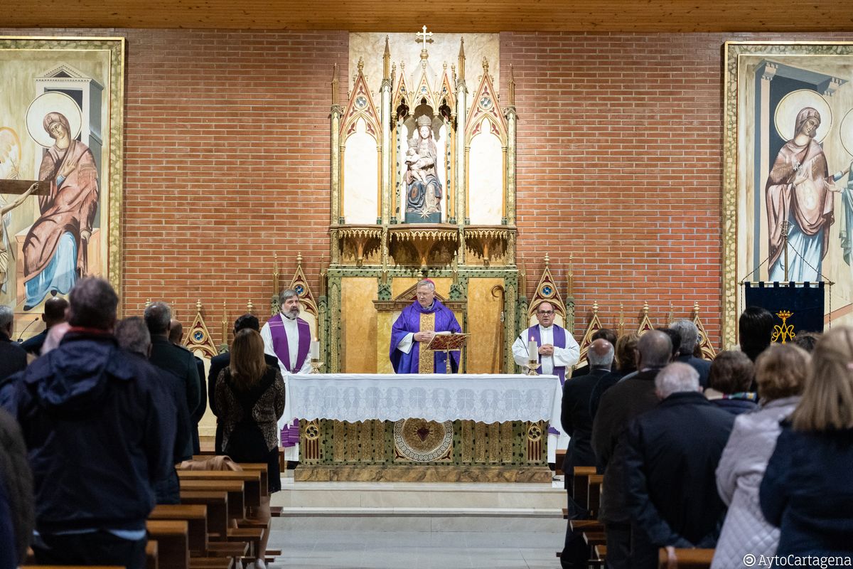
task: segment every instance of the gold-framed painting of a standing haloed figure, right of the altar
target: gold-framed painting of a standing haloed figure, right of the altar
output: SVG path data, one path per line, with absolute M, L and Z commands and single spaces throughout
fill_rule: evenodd
M 853 323 L 853 44 L 725 49 L 723 345 L 741 282 L 826 282 L 825 322 Z

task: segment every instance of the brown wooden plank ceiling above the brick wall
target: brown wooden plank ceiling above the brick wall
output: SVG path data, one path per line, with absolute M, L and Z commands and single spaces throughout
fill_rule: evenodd
M 844 32 L 853 0 L 6 0 L 3 27 L 415 32 Z M 414 29 L 413 29 L 414 28 Z

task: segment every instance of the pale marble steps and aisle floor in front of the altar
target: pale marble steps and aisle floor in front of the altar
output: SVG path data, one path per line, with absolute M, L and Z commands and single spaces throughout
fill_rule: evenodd
M 282 486 L 273 504 L 287 514 L 272 520 L 269 545 L 282 555 L 270 569 L 560 567 L 554 552 L 562 549 L 566 531 L 561 481 L 333 488 L 285 478 Z

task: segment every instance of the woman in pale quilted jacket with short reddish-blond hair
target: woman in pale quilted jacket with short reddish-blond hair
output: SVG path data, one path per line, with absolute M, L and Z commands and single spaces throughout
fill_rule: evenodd
M 743 365 L 748 364 L 748 384 L 752 380 L 749 358 L 740 352 L 722 353 L 738 354 Z M 711 374 L 716 365 L 715 360 Z M 771 345 L 757 357 L 755 379 L 761 406 L 734 420 L 732 434 L 717 466 L 717 491 L 728 506 L 728 513 L 712 569 L 738 567 L 746 554 L 775 553 L 779 530 L 761 514 L 758 487 L 779 438 L 779 421 L 791 415 L 797 406 L 808 366 L 809 354 L 792 344 Z

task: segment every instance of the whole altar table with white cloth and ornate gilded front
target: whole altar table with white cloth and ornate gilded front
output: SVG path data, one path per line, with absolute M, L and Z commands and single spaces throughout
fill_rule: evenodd
M 548 422 L 559 413 L 560 401 L 555 398 L 559 380 L 503 375 L 431 385 L 427 378 L 439 376 L 415 377 L 420 380 L 394 375 L 334 375 L 322 380 L 317 375 L 289 376 L 297 416 L 313 417 L 300 421 L 295 479 L 551 479 L 546 433 Z M 455 376 L 462 377 L 466 376 Z M 510 387 L 493 385 L 495 380 Z

